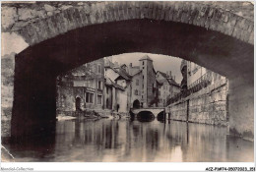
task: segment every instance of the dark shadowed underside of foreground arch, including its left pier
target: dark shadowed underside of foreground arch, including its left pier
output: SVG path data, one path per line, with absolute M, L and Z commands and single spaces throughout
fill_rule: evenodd
M 12 136 L 39 133 L 38 127 L 32 128 L 46 130 L 44 123 L 55 120 L 56 76 L 98 58 L 129 52 L 180 57 L 229 79 L 253 71 L 253 46 L 218 31 L 146 19 L 74 29 L 16 56 Z M 253 75 L 249 77 L 253 81 Z

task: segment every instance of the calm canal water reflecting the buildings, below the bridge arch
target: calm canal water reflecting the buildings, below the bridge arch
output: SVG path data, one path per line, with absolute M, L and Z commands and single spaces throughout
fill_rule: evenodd
M 15 161 L 214 162 L 253 161 L 253 143 L 226 128 L 157 119 L 58 121 L 53 137 L 6 144 Z

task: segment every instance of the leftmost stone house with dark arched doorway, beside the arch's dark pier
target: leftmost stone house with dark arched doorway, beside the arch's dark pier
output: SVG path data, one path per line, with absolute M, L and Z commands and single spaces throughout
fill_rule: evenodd
M 57 113 L 104 107 L 104 61 L 98 59 L 57 77 Z

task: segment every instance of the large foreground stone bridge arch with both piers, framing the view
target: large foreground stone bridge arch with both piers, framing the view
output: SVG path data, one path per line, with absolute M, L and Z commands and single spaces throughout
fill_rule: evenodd
M 56 76 L 127 52 L 177 56 L 224 75 L 230 127 L 254 133 L 253 120 L 248 121 L 254 80 L 250 15 L 203 2 L 58 3 L 3 7 L 2 20 L 8 21 L 3 31 L 20 34 L 29 44 L 15 60 L 13 136 L 29 134 L 32 126 L 44 130 L 43 121 L 55 120 Z M 24 119 L 26 125 L 19 123 Z

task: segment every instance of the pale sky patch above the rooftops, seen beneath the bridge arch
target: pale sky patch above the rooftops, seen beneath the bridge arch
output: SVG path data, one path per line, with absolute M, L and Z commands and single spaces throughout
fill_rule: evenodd
M 111 57 L 112 57 L 112 62 L 118 62 L 119 64 L 126 64 L 126 65 L 129 65 L 130 63 L 132 63 L 133 66 L 138 66 L 139 59 L 146 54 L 150 58 L 152 58 L 153 65 L 156 72 L 160 71 L 160 72 L 166 73 L 166 71 L 171 71 L 172 76 L 175 76 L 176 83 L 178 84 L 181 83 L 182 75 L 180 72 L 180 64 L 182 59 L 180 58 L 160 55 L 160 54 L 139 53 L 139 52 L 119 54 Z

